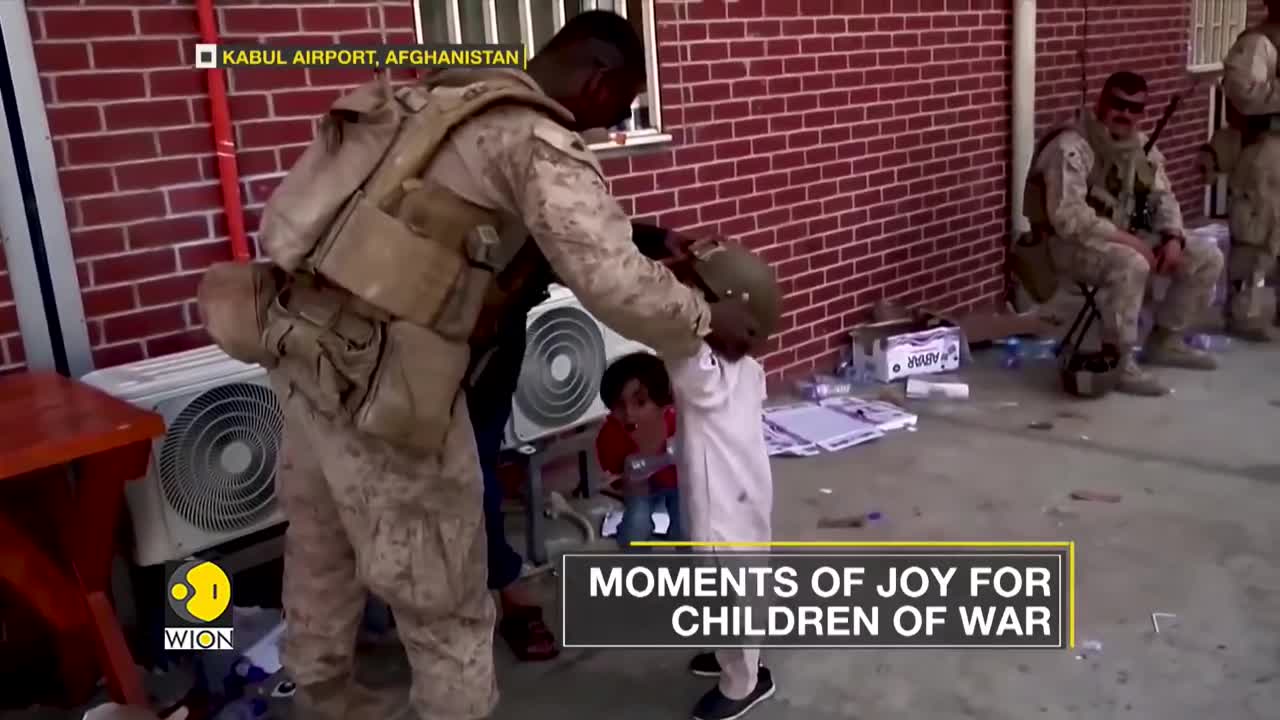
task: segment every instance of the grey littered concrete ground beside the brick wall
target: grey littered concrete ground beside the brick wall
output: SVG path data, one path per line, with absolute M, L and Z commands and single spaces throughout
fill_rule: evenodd
M 906 402 L 918 432 L 776 460 L 777 539 L 1075 541 L 1087 650 L 769 651 L 778 692 L 751 717 L 1280 716 L 1280 347 L 1236 345 L 1221 363 L 1161 370 L 1169 397 L 1075 401 L 1048 366 L 1004 370 L 979 355 L 961 374 L 968 401 Z M 1075 489 L 1121 501 L 1073 501 Z M 883 520 L 817 528 L 869 511 Z M 550 575 L 534 582 L 557 626 Z M 1157 634 L 1152 612 L 1178 618 Z M 518 664 L 499 642 L 498 656 L 498 720 L 687 717 L 709 687 L 680 651 Z M 362 675 L 401 685 L 407 669 L 374 657 Z

